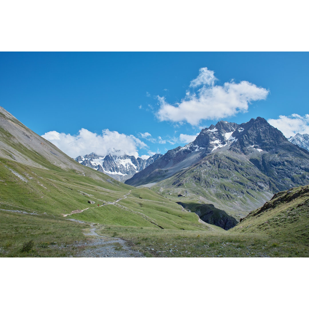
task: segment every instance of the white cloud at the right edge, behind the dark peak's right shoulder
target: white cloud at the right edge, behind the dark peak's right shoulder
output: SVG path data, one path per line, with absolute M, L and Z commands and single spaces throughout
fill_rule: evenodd
M 280 130 L 286 138 L 297 133 L 309 134 L 309 114 L 300 116 L 292 114 L 290 116 L 280 115 L 278 119 L 268 119 L 270 125 Z

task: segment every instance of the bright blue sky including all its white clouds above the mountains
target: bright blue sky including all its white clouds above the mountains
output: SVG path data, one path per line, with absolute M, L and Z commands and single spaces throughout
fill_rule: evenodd
M 307 52 L 2 52 L 0 68 L 0 105 L 71 157 L 163 154 L 257 116 L 309 133 Z

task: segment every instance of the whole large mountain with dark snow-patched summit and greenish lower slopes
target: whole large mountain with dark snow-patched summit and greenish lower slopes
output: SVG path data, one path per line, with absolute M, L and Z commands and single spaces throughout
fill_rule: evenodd
M 163 195 L 182 194 L 239 219 L 273 193 L 308 184 L 309 152 L 261 117 L 240 125 L 219 121 L 125 183 L 150 183 Z

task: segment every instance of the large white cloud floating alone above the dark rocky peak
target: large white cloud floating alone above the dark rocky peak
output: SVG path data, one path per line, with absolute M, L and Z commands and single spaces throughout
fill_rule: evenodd
M 159 121 L 186 121 L 198 125 L 204 119 L 219 119 L 234 116 L 239 112 L 247 112 L 252 101 L 266 99 L 269 90 L 241 81 L 226 82 L 223 86 L 216 85 L 218 79 L 214 71 L 201 68 L 197 78 L 193 79 L 184 99 L 175 105 L 168 104 L 165 97 L 157 96 Z

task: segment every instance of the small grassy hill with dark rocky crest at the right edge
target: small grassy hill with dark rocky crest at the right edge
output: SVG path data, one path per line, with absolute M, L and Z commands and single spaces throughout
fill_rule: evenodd
M 263 231 L 275 238 L 284 238 L 308 245 L 309 186 L 276 193 L 262 207 L 241 219 L 232 231 L 257 233 Z

